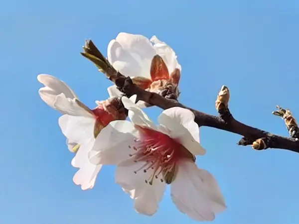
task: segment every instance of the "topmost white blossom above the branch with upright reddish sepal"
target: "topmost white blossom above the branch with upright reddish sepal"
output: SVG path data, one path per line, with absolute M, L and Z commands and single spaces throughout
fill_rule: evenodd
M 145 90 L 175 99 L 181 72 L 176 58 L 172 48 L 156 36 L 149 40 L 143 35 L 122 32 L 108 45 L 108 60 L 116 70 Z M 108 92 L 113 96 L 122 94 L 116 86 L 109 87 Z

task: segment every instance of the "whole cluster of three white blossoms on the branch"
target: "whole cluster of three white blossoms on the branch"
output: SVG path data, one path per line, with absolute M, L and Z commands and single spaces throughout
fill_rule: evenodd
M 179 95 L 181 66 L 172 48 L 153 36 L 120 33 L 108 45 L 108 61 L 139 87 L 159 94 Z M 156 125 L 136 102 L 116 88 L 110 98 L 84 105 L 74 91 L 56 77 L 40 74 L 41 99 L 61 112 L 59 126 L 75 153 L 73 177 L 82 190 L 94 187 L 103 165 L 116 165 L 115 181 L 134 200 L 138 213 L 156 213 L 166 185 L 177 209 L 197 221 L 212 221 L 226 209 L 217 181 L 195 164 L 206 150 L 199 140 L 194 114 L 183 108 L 164 110 Z M 129 120 L 127 120 L 127 117 Z

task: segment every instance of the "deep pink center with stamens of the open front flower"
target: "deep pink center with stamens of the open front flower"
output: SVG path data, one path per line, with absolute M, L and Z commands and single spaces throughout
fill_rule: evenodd
M 135 174 L 137 172 L 151 172 L 146 183 L 152 185 L 153 180 L 162 174 L 163 179 L 160 181 L 170 184 L 175 178 L 175 166 L 180 160 L 195 161 L 194 155 L 177 140 L 147 127 L 139 125 L 135 127 L 140 132 L 140 138 L 135 140 L 134 145 L 129 145 L 129 148 L 136 150 L 136 153 L 130 154 L 130 156 L 134 157 L 134 162 L 146 162 L 134 171 Z

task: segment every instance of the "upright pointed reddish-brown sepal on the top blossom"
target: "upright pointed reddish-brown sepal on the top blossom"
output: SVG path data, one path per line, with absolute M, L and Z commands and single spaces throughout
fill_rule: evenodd
M 163 59 L 159 55 L 155 55 L 151 60 L 150 77 L 152 81 L 169 79 L 168 68 L 165 62 L 163 61 Z

